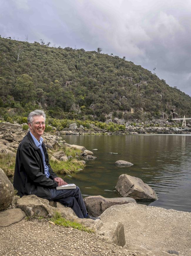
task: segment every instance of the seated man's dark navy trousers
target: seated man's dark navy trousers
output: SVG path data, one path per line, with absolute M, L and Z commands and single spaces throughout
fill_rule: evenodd
M 86 206 L 82 198 L 79 187 L 76 189 L 59 189 L 50 188 L 51 200 L 57 201 L 64 206 L 71 207 L 78 218 L 87 216 Z

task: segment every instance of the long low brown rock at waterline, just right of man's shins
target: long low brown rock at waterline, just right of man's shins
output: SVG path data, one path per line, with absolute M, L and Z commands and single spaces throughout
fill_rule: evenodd
M 101 195 L 88 196 L 84 198 L 86 209 L 93 217 L 100 216 L 107 208 L 115 204 L 136 203 L 135 199 L 126 198 L 105 198 Z

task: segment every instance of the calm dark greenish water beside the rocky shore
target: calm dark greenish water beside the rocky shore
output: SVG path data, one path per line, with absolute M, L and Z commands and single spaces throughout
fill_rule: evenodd
M 118 197 L 114 187 L 121 174 L 139 177 L 150 185 L 158 200 L 150 203 L 167 209 L 191 212 L 191 136 L 189 135 L 66 135 L 69 144 L 85 146 L 97 159 L 82 171 L 65 176 L 84 196 Z M 118 154 L 109 154 L 115 152 Z M 115 161 L 133 163 L 117 167 Z

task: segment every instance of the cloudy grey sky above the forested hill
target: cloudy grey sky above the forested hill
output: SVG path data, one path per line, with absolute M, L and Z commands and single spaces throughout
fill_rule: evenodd
M 191 96 L 190 0 L 0 0 L 0 35 L 99 47 Z

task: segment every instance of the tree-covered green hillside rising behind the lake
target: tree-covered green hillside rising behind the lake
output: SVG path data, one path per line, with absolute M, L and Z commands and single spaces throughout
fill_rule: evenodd
M 37 107 L 53 118 L 101 121 L 191 113 L 188 95 L 112 54 L 0 38 L 0 60 L 1 116 Z

